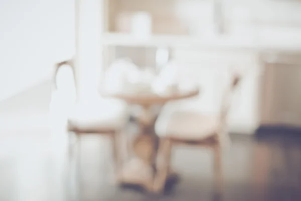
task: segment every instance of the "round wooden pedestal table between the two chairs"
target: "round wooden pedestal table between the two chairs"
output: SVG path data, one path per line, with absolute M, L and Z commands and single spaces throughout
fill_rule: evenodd
M 198 94 L 198 88 L 164 95 L 156 93 L 106 93 L 106 96 L 122 99 L 128 104 L 140 106 L 142 109 L 142 116 L 138 118 L 139 134 L 135 136 L 131 145 L 133 157 L 118 171 L 117 181 L 119 183 L 136 184 L 153 191 L 159 137 L 154 132 L 147 132 L 149 128 L 154 128 L 155 121 L 152 118 L 145 118 L 145 114 L 147 116 L 150 107 L 154 105 L 163 106 L 172 100 L 190 98 Z M 152 130 L 154 131 L 154 129 Z

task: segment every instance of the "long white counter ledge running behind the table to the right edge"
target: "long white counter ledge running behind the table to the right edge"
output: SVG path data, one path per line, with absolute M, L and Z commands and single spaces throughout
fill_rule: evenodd
M 277 32 L 273 33 L 276 35 Z M 277 35 L 278 36 L 278 35 Z M 293 40 L 291 40 L 293 38 Z M 257 38 L 247 36 L 177 36 L 177 35 L 152 35 L 149 38 L 139 39 L 131 34 L 106 33 L 103 34 L 103 45 L 125 47 L 171 47 L 171 48 L 214 48 L 232 50 L 260 51 L 286 50 L 301 51 L 300 37 L 287 37 L 280 34 L 273 39 L 271 34 L 263 34 Z

